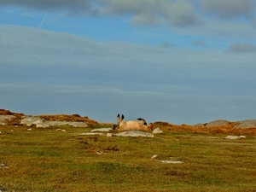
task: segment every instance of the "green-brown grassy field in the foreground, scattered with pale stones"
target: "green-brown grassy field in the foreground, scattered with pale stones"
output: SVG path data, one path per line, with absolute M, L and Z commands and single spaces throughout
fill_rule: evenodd
M 225 140 L 221 133 L 166 130 L 153 138 L 80 136 L 84 130 L 90 128 L 0 126 L 0 164 L 6 165 L 0 189 L 256 191 L 253 135 Z

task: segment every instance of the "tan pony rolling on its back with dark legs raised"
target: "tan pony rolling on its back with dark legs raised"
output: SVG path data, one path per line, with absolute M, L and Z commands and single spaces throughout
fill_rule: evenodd
M 118 114 L 117 116 L 117 122 L 119 124 L 119 131 L 125 131 L 125 130 L 144 130 L 144 131 L 152 131 L 153 130 L 153 124 L 149 123 L 147 125 L 145 119 L 138 118 L 136 120 L 129 120 L 129 121 L 124 121 L 125 116 L 122 114 L 121 118 L 120 115 Z

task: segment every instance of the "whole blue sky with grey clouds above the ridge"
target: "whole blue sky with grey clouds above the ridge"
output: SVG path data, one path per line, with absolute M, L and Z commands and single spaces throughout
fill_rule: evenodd
M 0 0 L 0 108 L 256 119 L 256 0 Z

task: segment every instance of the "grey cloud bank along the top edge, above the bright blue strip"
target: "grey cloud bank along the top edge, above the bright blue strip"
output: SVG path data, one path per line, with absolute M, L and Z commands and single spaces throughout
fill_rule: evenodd
M 135 25 L 200 26 L 210 15 L 255 19 L 255 0 L 3 0 L 0 6 L 64 11 L 69 16 L 130 15 Z M 198 7 L 199 5 L 199 7 Z M 198 9 L 200 8 L 200 9 Z

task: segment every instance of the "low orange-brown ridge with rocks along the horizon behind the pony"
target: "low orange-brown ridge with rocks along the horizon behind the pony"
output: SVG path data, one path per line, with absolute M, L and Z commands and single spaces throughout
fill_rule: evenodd
M 24 113 L 14 113 L 7 109 L 0 109 L 0 125 L 20 125 L 20 121 L 27 116 Z M 87 116 L 81 117 L 79 114 L 40 114 L 34 117 L 44 119 L 46 121 L 71 121 L 71 122 L 86 122 L 88 125 L 100 125 L 106 123 L 100 123 L 94 119 L 90 119 Z M 107 123 L 113 125 L 113 123 Z M 195 125 L 174 125 L 169 122 L 156 121 L 153 123 L 154 128 L 160 127 L 164 131 L 190 131 L 190 132 L 202 132 L 202 133 L 222 133 L 233 135 L 256 135 L 256 119 L 247 119 L 236 122 L 229 120 L 217 119 L 208 123 L 198 123 Z

